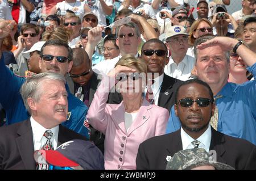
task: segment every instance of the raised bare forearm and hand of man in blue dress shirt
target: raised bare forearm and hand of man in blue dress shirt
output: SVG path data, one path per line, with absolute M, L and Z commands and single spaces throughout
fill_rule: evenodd
M 238 43 L 238 40 L 232 39 L 230 37 L 218 36 L 211 40 L 206 41 L 197 46 L 199 49 L 204 49 L 214 45 L 219 45 L 223 51 L 233 50 L 234 46 Z M 252 66 L 256 63 L 256 53 L 251 51 L 245 45 L 240 45 L 237 48 L 237 54 L 242 58 L 247 66 Z

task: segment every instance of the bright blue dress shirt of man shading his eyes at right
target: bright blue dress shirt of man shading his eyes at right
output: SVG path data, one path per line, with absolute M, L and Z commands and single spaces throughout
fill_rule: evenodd
M 256 63 L 248 70 L 255 78 Z M 241 85 L 226 83 L 217 95 L 222 95 L 222 98 L 216 100 L 218 131 L 243 138 L 256 145 L 256 79 Z M 177 131 L 179 128 L 180 120 L 172 106 L 166 133 Z

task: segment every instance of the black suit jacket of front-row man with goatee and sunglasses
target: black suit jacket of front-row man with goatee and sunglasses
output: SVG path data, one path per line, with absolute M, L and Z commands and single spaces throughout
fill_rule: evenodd
M 139 145 L 136 158 L 137 169 L 166 169 L 167 155 L 182 150 L 180 129 L 170 134 L 152 137 Z M 217 162 L 235 169 L 256 170 L 256 146 L 241 138 L 234 138 L 212 128 L 210 150 L 216 150 Z

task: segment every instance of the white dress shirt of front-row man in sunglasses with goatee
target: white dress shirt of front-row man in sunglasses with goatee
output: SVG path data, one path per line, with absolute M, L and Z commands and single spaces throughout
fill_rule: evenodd
M 191 142 L 195 140 L 191 136 L 189 136 L 182 127 L 180 130 L 180 134 L 183 150 L 195 148 L 194 145 L 191 144 Z M 212 130 L 210 128 L 210 124 L 208 125 L 207 130 L 196 140 L 200 141 L 200 145 L 198 146 L 198 148 L 203 148 L 207 152 L 209 152 L 210 141 L 212 140 Z

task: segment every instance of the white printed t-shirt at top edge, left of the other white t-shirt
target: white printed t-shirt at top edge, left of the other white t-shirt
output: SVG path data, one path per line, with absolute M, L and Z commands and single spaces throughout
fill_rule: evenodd
M 71 10 L 73 12 L 75 12 L 75 14 L 77 16 L 79 16 L 79 18 L 82 20 L 82 17 L 84 16 L 85 12 L 84 12 L 84 3 L 80 2 L 80 1 L 75 1 L 72 3 L 67 3 L 65 1 L 63 2 L 58 2 L 56 4 L 56 10 L 60 9 L 61 11 L 67 11 L 67 10 Z

